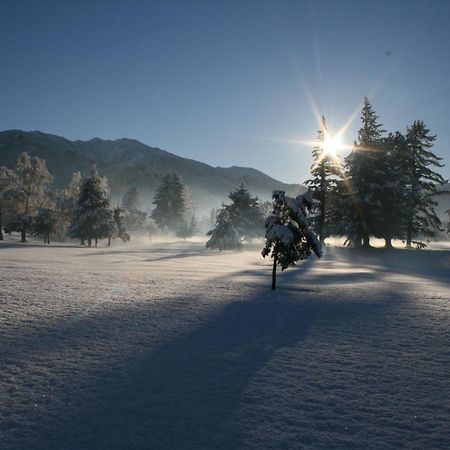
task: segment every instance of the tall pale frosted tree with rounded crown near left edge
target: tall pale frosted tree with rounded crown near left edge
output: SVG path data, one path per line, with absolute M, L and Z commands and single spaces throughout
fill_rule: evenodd
M 21 153 L 16 164 L 16 183 L 7 191 L 7 202 L 11 207 L 8 231 L 18 231 L 21 242 L 26 242 L 33 215 L 48 200 L 52 176 L 46 163 L 38 157 Z

